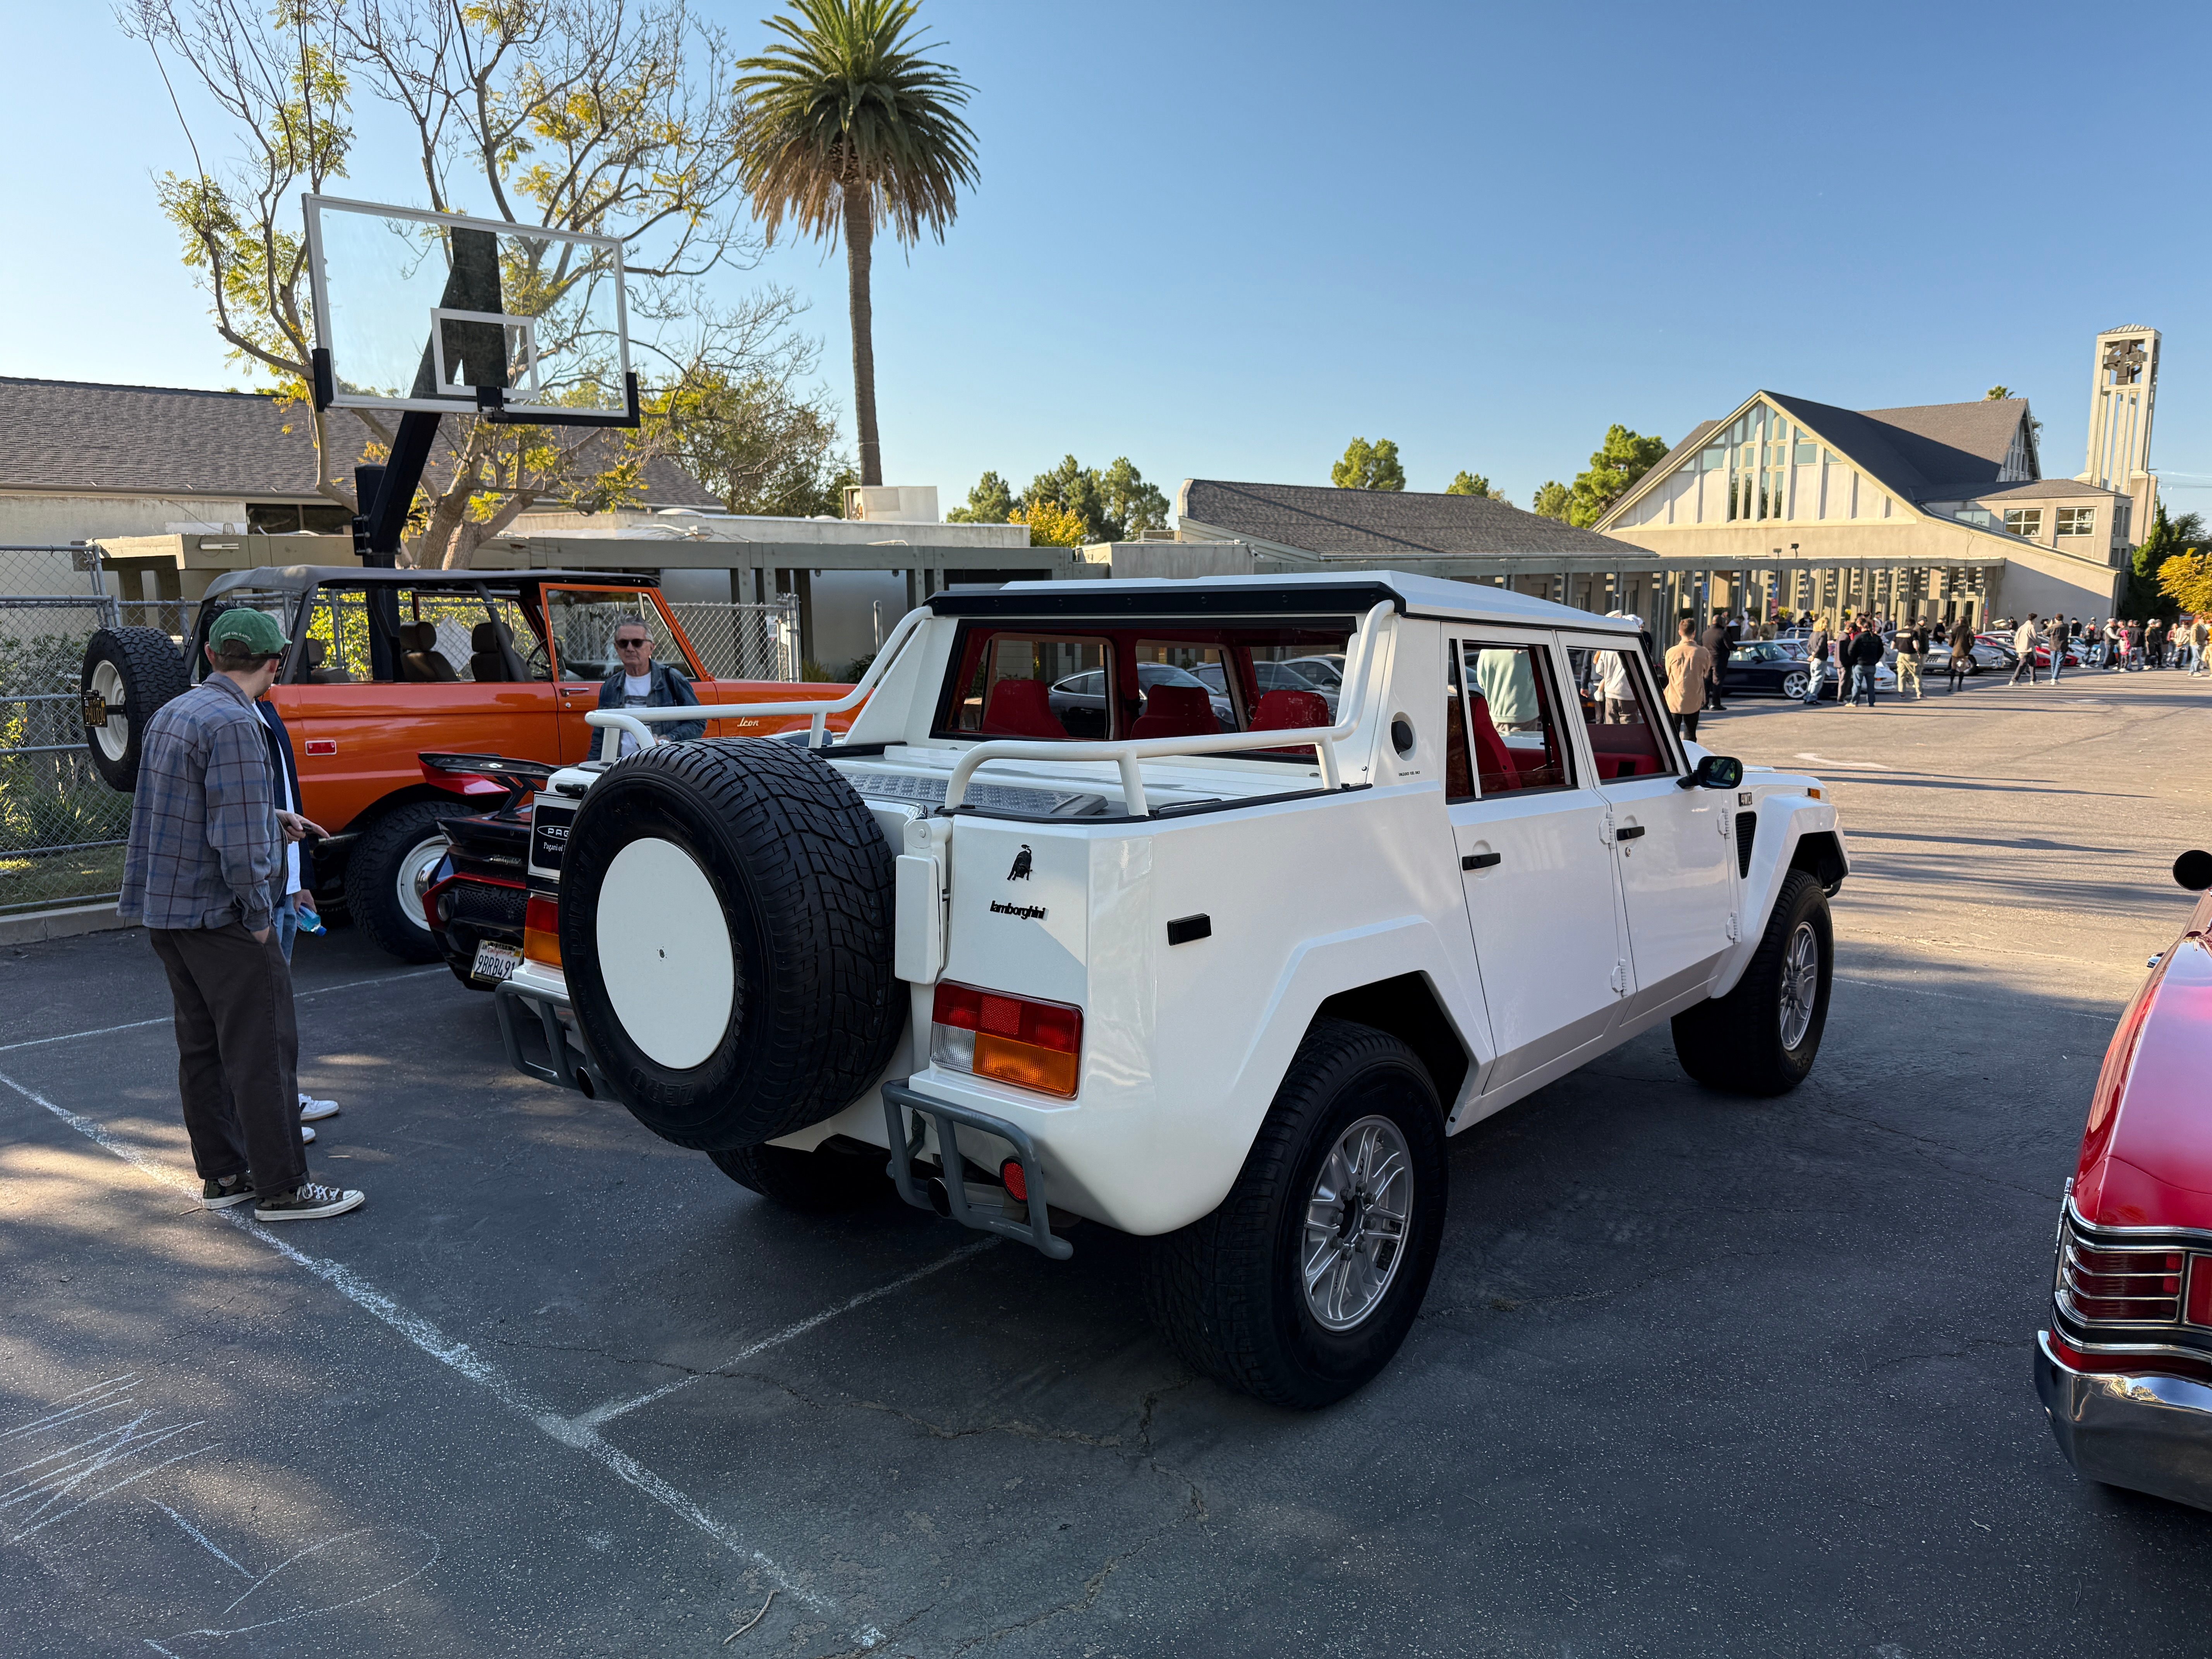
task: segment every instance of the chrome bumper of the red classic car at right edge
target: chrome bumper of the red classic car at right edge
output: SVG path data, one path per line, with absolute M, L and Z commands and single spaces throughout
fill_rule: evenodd
M 2212 1387 L 2157 1371 L 2077 1371 L 2037 1332 L 2035 1391 L 2075 1473 L 2212 1509 Z

